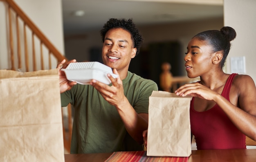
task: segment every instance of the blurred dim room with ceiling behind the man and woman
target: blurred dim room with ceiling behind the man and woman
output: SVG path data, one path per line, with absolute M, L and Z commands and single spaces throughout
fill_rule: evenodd
M 144 43 L 129 71 L 159 85 L 161 64 L 171 64 L 173 76 L 186 76 L 184 53 L 193 35 L 220 29 L 222 0 L 62 0 L 65 56 L 77 61 L 101 61 L 99 31 L 109 18 L 132 18 Z

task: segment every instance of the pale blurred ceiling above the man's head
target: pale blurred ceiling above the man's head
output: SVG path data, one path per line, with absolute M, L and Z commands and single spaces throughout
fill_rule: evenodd
M 64 35 L 99 30 L 109 18 L 137 26 L 223 17 L 223 0 L 62 0 Z M 74 16 L 81 10 L 82 16 Z

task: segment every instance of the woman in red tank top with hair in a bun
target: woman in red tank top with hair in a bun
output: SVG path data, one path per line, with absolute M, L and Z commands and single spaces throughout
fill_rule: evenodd
M 193 96 L 191 131 L 198 150 L 246 149 L 245 135 L 256 140 L 255 83 L 248 75 L 222 70 L 235 37 L 236 31 L 225 26 L 198 33 L 187 47 L 187 75 L 200 76 L 200 81 L 183 85 L 175 93 Z

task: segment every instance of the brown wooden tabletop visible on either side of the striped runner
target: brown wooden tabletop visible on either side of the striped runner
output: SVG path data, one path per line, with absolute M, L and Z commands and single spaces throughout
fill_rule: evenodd
M 65 162 L 104 162 L 111 154 L 65 154 Z M 256 162 L 256 149 L 192 150 L 188 162 Z

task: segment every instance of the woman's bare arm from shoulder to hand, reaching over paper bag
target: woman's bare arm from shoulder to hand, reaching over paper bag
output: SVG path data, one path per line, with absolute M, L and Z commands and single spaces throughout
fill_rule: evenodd
M 200 83 L 186 84 L 175 93 L 180 96 L 189 95 L 215 101 L 243 134 L 256 140 L 256 87 L 254 81 L 248 75 L 238 75 L 233 81 L 231 91 L 235 92 L 235 94 L 231 94 L 231 92 L 229 96 L 230 101 L 234 104 Z

